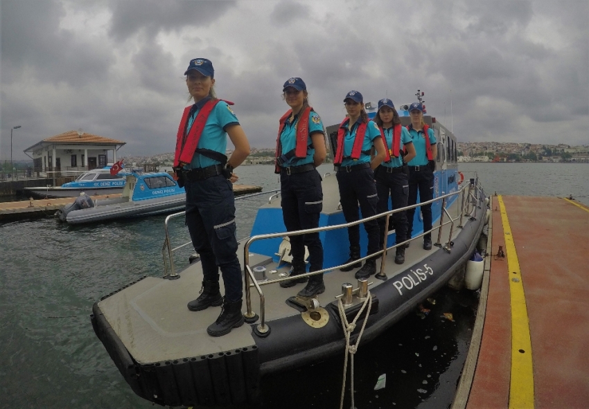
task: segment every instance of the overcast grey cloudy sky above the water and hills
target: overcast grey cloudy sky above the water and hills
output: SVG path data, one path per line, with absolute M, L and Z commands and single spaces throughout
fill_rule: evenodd
M 0 16 L 1 160 L 17 125 L 15 160 L 78 128 L 123 156 L 173 152 L 195 57 L 252 147 L 275 145 L 292 76 L 325 125 L 350 90 L 398 106 L 421 89 L 459 141 L 589 144 L 586 0 L 0 0 Z

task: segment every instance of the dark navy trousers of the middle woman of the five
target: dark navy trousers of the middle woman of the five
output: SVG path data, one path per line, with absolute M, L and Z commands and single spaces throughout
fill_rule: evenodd
M 358 203 L 362 217 L 376 215 L 376 203 L 378 203 L 378 194 L 376 193 L 376 184 L 374 183 L 374 173 L 369 167 L 353 172 L 340 170 L 335 174 L 337 183 L 340 187 L 340 203 L 346 222 L 358 221 Z M 364 222 L 364 229 L 368 234 L 368 253 L 372 254 L 380 251 L 382 241 L 378 235 L 378 222 L 376 220 Z M 360 225 L 348 228 L 348 238 L 350 247 L 360 247 Z

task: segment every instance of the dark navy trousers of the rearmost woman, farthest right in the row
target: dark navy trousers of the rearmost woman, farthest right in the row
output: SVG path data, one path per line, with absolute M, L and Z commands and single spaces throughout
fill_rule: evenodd
M 417 203 L 417 191 L 419 190 L 419 203 L 432 200 L 434 198 L 434 172 L 429 168 L 415 171 L 409 167 L 409 201 L 407 206 L 412 206 Z M 421 209 L 423 215 L 423 231 L 432 229 L 432 204 L 423 205 L 417 210 Z M 415 215 L 415 208 L 407 210 L 407 222 L 409 227 L 407 232 L 412 235 L 413 217 Z M 423 238 L 432 238 L 432 233 L 428 233 Z

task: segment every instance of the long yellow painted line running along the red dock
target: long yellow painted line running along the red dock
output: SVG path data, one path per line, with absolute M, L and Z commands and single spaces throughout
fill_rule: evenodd
M 531 358 L 531 339 L 520 262 L 513 242 L 503 197 L 498 197 L 503 222 L 509 294 L 511 296 L 511 379 L 509 409 L 534 408 L 534 370 Z

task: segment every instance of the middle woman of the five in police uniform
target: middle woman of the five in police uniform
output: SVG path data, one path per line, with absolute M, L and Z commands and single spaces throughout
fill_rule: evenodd
M 385 145 L 380 136 L 378 125 L 368 119 L 364 111 L 364 100 L 358 91 L 350 91 L 344 98 L 348 116 L 337 131 L 337 149 L 333 159 L 335 165 L 337 183 L 340 187 L 340 203 L 344 218 L 347 222 L 357 221 L 358 203 L 362 210 L 362 217 L 376 215 L 376 185 L 374 183 L 373 170 L 385 158 Z M 376 156 L 371 160 L 371 149 L 376 148 Z M 376 220 L 364 223 L 364 229 L 368 234 L 368 253 L 376 253 L 382 246 L 382 239 L 378 235 L 378 222 Z M 350 240 L 350 258 L 346 264 L 360 259 L 360 226 L 348 228 Z M 357 262 L 342 271 L 351 271 L 361 266 Z M 369 258 L 360 270 L 355 273 L 355 278 L 367 278 L 376 273 L 376 259 Z

